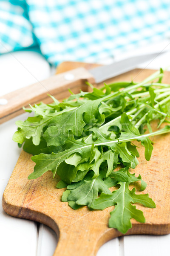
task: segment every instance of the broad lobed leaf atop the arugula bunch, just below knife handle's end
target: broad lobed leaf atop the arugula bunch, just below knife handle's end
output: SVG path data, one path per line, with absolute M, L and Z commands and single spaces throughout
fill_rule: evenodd
M 47 145 L 64 145 L 69 137 L 69 131 L 77 137 L 81 136 L 85 123 L 91 125 L 91 122 L 97 122 L 98 125 L 102 125 L 104 115 L 98 110 L 100 101 L 101 99 L 89 100 L 73 111 L 59 115 L 55 126 L 48 127 L 44 133 Z

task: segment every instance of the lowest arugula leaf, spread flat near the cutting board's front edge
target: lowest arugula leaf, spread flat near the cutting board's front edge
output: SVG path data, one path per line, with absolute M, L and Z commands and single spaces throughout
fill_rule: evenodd
M 91 208 L 100 210 L 115 206 L 115 209 L 111 212 L 109 227 L 116 228 L 123 234 L 132 227 L 130 222 L 131 218 L 142 223 L 145 222 L 143 212 L 136 209 L 136 206 L 133 206 L 132 204 L 140 203 L 145 207 L 156 207 L 148 194 L 136 195 L 135 188 L 132 190 L 129 189 L 129 184 L 132 180 L 129 182 L 119 182 L 119 189 L 113 191 L 112 195 L 101 193 L 100 197 L 91 204 Z

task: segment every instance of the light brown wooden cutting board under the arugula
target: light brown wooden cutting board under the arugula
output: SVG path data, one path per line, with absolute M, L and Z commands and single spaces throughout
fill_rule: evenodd
M 67 62 L 58 68 L 58 72 L 76 68 L 80 64 Z M 87 67 L 87 64 L 81 64 Z M 74 67 L 73 67 L 74 66 Z M 88 64 L 88 67 L 92 67 Z M 153 70 L 136 69 L 117 76 L 110 81 L 142 81 Z M 166 72 L 164 82 L 170 82 L 170 73 Z M 141 174 L 147 182 L 143 193 L 149 193 L 156 203 L 155 209 L 138 204 L 137 209 L 144 212 L 144 224 L 132 220 L 130 234 L 163 235 L 170 233 L 170 134 L 153 138 L 155 142 L 151 160 L 144 158 L 144 148 L 139 148 L 139 165 L 132 173 Z M 115 229 L 108 228 L 109 212 L 113 207 L 102 211 L 89 211 L 87 207 L 73 210 L 68 203 L 61 202 L 65 189 L 56 189 L 59 177 L 52 179 L 49 171 L 36 180 L 28 180 L 33 172 L 34 162 L 31 155 L 22 151 L 3 194 L 3 209 L 12 216 L 38 221 L 51 227 L 59 236 L 54 256 L 95 256 L 99 247 L 106 241 L 122 236 Z M 138 187 L 136 186 L 138 193 Z M 140 192 L 141 193 L 141 192 Z

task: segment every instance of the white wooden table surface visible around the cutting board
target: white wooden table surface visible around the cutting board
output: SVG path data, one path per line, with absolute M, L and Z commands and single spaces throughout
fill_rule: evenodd
M 162 46 L 160 47 L 160 50 Z M 140 52 L 141 53 L 141 52 Z M 105 61 L 107 63 L 107 61 Z M 149 62 L 148 62 L 149 63 Z M 148 63 L 142 64 L 144 68 Z M 170 52 L 151 61 L 147 68 L 159 69 L 170 65 Z M 51 75 L 44 58 L 36 52 L 16 52 L 0 56 L 0 95 L 37 82 Z M 0 197 L 20 155 L 12 141 L 16 120 L 27 113 L 0 125 Z M 170 200 L 167 198 L 167 200 Z M 104 244 L 97 256 L 160 256 L 169 255 L 170 235 L 133 235 L 117 238 Z M 0 204 L 0 255 L 52 256 L 57 246 L 54 231 L 42 224 L 8 216 Z

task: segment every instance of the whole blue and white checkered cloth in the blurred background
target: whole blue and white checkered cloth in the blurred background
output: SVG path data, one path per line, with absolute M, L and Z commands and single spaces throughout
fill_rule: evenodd
M 170 0 L 0 0 L 0 53 L 98 62 L 170 37 Z

